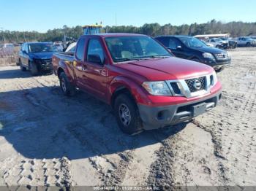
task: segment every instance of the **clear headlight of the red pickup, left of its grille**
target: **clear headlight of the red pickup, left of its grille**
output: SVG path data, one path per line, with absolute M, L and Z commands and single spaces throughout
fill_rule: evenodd
M 143 82 L 142 86 L 151 95 L 172 95 L 172 93 L 170 93 L 170 89 L 167 86 L 165 81 Z

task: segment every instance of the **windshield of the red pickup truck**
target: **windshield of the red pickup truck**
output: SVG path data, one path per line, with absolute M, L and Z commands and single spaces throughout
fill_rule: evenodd
M 148 36 L 107 37 L 105 42 L 115 62 L 172 56 Z

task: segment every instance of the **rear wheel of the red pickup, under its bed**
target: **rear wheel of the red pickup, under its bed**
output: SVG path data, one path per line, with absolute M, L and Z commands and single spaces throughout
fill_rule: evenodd
M 61 86 L 61 91 L 64 95 L 75 95 L 75 86 L 69 82 L 69 79 L 67 79 L 67 75 L 64 72 L 61 72 L 59 75 L 59 85 Z

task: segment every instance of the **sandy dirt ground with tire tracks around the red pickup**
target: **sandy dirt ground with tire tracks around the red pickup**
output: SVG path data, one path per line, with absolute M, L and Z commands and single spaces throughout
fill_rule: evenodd
M 127 136 L 108 105 L 53 74 L 0 67 L 0 185 L 256 185 L 256 48 L 230 50 L 222 101 L 193 122 Z

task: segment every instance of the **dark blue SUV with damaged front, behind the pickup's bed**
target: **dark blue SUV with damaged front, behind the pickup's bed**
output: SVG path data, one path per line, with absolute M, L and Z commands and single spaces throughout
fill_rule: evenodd
M 40 71 L 52 71 L 52 56 L 56 52 L 51 42 L 26 42 L 22 44 L 19 52 L 18 63 L 20 70 L 29 69 L 33 76 L 39 74 Z

